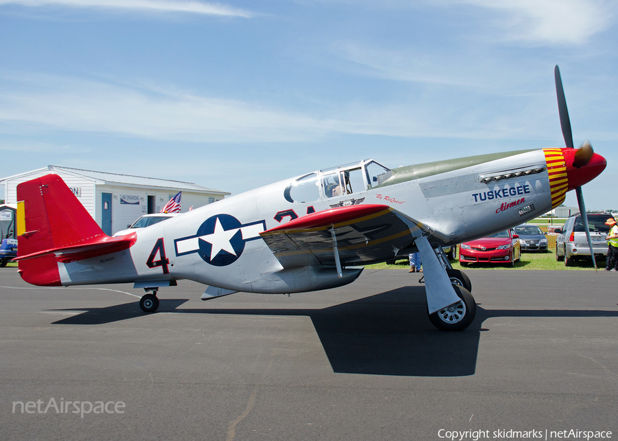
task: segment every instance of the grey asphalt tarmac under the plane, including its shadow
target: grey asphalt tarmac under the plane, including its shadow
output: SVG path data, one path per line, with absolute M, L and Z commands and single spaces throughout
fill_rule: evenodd
M 477 318 L 442 332 L 401 270 L 208 302 L 183 281 L 145 314 L 129 284 L 1 268 L 0 439 L 618 438 L 618 274 L 467 272 Z

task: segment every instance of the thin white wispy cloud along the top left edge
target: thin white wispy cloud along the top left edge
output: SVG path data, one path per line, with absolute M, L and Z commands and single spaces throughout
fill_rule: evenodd
M 0 0 L 0 5 L 16 4 L 30 7 L 64 6 L 68 8 L 104 8 L 141 12 L 182 12 L 218 16 L 240 16 L 249 18 L 253 14 L 247 10 L 232 8 L 219 3 L 203 1 L 172 0 Z

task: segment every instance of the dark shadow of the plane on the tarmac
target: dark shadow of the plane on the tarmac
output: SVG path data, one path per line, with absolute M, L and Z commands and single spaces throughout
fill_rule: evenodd
M 474 374 L 483 321 L 492 317 L 618 317 L 608 310 L 485 310 L 463 332 L 435 329 L 424 287 L 406 286 L 322 309 L 180 308 L 188 299 L 161 299 L 159 312 L 308 316 L 334 372 L 400 376 Z M 66 310 L 66 309 L 65 309 Z M 98 325 L 143 317 L 137 303 L 83 311 L 54 324 Z

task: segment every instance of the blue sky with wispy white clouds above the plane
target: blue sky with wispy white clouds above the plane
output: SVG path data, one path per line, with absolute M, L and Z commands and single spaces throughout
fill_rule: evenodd
M 617 13 L 595 0 L 0 0 L 0 177 L 53 164 L 238 194 L 369 157 L 560 147 L 558 64 L 575 144 L 608 159 L 586 206 L 618 209 Z

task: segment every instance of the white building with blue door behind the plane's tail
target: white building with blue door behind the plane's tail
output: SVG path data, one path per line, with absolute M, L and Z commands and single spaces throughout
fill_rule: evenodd
M 201 207 L 229 196 L 229 192 L 206 188 L 190 182 L 146 178 L 130 174 L 94 172 L 59 166 L 47 166 L 0 179 L 6 203 L 17 202 L 17 184 L 45 174 L 58 174 L 84 205 L 103 231 L 112 235 L 125 229 L 139 216 L 158 213 L 178 192 L 183 192 L 181 212 Z

